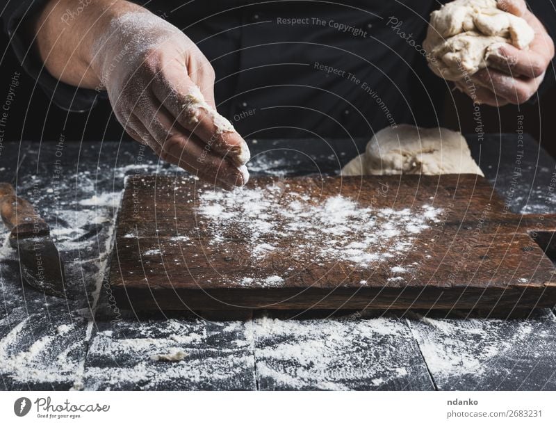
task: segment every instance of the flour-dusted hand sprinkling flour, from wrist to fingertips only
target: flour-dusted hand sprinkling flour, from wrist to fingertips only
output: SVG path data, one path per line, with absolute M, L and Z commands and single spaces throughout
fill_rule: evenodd
M 216 112 L 213 68 L 186 35 L 131 10 L 113 17 L 92 49 L 92 69 L 136 141 L 224 189 L 247 182 L 247 144 Z

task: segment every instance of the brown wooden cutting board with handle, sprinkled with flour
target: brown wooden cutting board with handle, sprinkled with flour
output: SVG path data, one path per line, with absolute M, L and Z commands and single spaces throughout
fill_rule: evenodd
M 547 307 L 554 232 L 556 216 L 512 214 L 476 175 L 263 177 L 231 193 L 137 175 L 110 278 L 134 310 Z

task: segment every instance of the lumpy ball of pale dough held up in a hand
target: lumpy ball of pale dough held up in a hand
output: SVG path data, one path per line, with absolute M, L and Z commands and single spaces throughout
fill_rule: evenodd
M 534 31 L 525 19 L 496 7 L 496 0 L 455 0 L 430 15 L 423 47 L 432 71 L 457 81 L 489 66 L 501 43 L 527 49 Z

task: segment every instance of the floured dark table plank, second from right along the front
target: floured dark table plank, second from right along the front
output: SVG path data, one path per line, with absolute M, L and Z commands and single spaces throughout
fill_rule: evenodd
M 329 314 L 268 312 L 253 321 L 261 390 L 434 390 L 407 323 L 391 314 Z

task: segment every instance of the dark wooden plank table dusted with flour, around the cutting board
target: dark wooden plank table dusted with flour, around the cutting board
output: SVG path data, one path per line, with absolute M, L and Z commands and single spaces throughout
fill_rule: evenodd
M 258 141 L 250 168 L 334 174 L 364 143 Z M 505 134 L 470 144 L 509 209 L 556 211 L 556 163 L 535 141 Z M 135 143 L 1 147 L 0 180 L 17 185 L 47 218 L 72 294 L 60 300 L 22 285 L 17 255 L 0 230 L 6 390 L 556 390 L 549 309 L 256 312 L 228 321 L 120 311 L 105 274 L 124 177 L 181 172 Z M 151 358 L 178 350 L 186 353 L 179 362 Z

